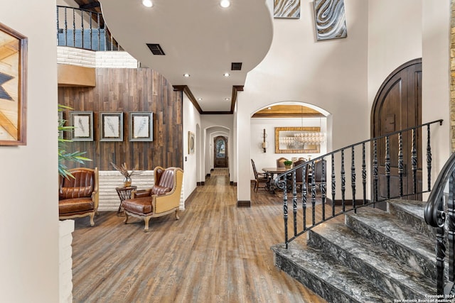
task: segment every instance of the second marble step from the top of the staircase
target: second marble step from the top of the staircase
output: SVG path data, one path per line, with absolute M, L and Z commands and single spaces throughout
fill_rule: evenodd
M 410 228 L 410 224 L 393 214 L 363 207 L 357 214 L 345 217 L 346 226 L 378 243 L 388 254 L 407 264 L 419 274 L 436 280 L 434 241 L 426 234 Z

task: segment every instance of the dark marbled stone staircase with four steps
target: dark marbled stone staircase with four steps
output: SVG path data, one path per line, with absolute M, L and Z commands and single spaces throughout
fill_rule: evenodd
M 431 302 L 435 232 L 424 205 L 390 200 L 387 211 L 350 211 L 344 224 L 327 221 L 307 231 L 306 241 L 272 246 L 275 265 L 328 302 Z

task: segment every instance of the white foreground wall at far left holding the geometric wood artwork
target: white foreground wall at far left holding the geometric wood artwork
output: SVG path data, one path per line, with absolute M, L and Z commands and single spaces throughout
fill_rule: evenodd
M 2 302 L 58 302 L 55 1 L 2 1 L 0 20 L 28 37 L 27 145 L 0 146 Z

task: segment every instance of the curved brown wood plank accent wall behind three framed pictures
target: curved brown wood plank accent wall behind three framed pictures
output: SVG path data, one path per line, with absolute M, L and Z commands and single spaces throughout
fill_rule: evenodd
M 75 111 L 93 111 L 94 141 L 68 143 L 68 151 L 86 151 L 85 156 L 92 159 L 85 167 L 113 170 L 110 162 L 139 165 L 139 170 L 153 170 L 157 165 L 183 167 L 182 92 L 174 92 L 158 72 L 149 68 L 97 68 L 96 87 L 59 87 L 58 102 Z M 112 111 L 123 112 L 124 139 L 100 141 L 100 112 Z M 129 141 L 129 111 L 154 113 L 154 141 Z M 68 111 L 63 118 L 68 120 Z M 66 164 L 70 168 L 80 166 Z

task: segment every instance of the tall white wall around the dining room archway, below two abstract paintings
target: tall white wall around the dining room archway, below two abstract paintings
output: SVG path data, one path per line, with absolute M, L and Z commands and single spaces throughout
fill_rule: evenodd
M 267 1 L 273 7 L 273 1 Z M 274 39 L 249 74 L 237 100 L 237 199 L 250 200 L 250 116 L 269 104 L 299 101 L 331 113 L 331 148 L 369 136 L 367 106 L 368 2 L 345 1 L 348 38 L 316 41 L 313 1 L 301 1 L 301 17 L 274 19 Z M 273 10 L 272 10 L 273 11 Z M 347 136 L 348 134 L 348 136 Z

